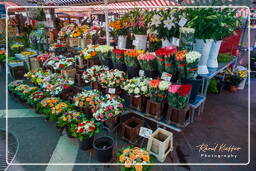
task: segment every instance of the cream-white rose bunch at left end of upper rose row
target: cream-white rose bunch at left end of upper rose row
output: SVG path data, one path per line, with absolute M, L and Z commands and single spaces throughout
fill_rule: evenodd
M 110 54 L 111 54 L 112 50 L 113 50 L 113 47 L 108 46 L 108 45 L 100 45 L 100 46 L 95 48 L 95 51 L 97 52 L 97 55 L 100 59 L 101 64 L 106 65 L 106 60 L 111 59 Z

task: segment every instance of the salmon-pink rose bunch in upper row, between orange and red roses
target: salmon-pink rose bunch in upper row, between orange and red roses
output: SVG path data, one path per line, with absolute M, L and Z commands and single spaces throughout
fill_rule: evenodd
M 140 67 L 144 70 L 145 76 L 154 78 L 157 76 L 157 63 L 154 54 L 145 53 L 138 56 Z

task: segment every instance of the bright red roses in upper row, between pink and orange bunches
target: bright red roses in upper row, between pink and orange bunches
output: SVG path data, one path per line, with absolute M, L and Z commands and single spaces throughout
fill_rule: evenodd
M 155 51 L 157 56 L 158 71 L 160 73 L 164 71 L 170 74 L 175 73 L 174 59 L 172 55 L 175 54 L 176 52 L 177 52 L 177 49 L 174 46 L 160 48 Z

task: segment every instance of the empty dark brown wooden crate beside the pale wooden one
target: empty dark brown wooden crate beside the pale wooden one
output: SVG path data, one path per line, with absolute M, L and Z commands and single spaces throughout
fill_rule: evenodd
M 121 136 L 122 139 L 131 144 L 137 143 L 139 140 L 140 127 L 143 126 L 143 120 L 137 117 L 131 117 L 122 123 Z

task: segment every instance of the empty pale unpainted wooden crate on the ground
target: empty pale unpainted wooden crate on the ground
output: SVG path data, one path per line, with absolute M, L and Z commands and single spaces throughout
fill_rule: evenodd
M 147 151 L 154 155 L 158 161 L 164 162 L 167 155 L 173 150 L 173 134 L 158 128 L 149 137 Z

